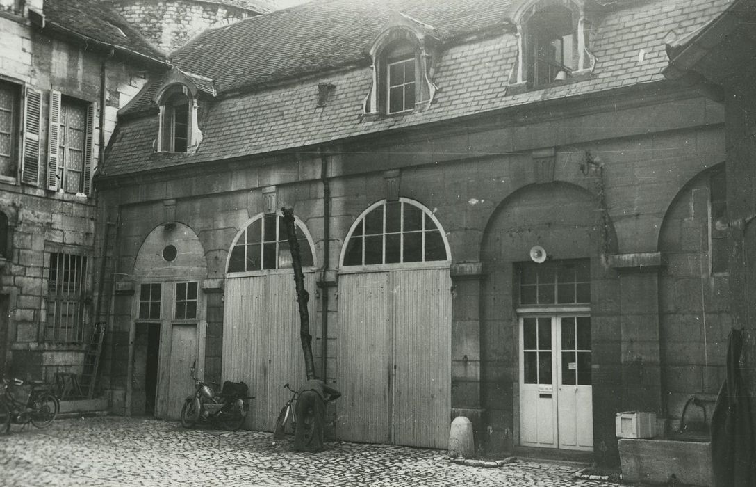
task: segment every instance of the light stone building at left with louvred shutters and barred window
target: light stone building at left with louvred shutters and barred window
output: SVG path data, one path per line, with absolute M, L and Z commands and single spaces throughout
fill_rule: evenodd
M 92 176 L 116 111 L 167 64 L 99 2 L 0 7 L 0 375 L 52 382 L 82 372 L 110 304 L 95 289 Z

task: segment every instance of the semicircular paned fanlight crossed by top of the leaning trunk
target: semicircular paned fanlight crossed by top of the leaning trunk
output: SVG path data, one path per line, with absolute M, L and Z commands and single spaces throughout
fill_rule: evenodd
M 294 226 L 302 267 L 313 267 L 312 243 L 305 226 L 299 220 Z M 255 217 L 237 236 L 228 256 L 229 273 L 290 267 L 291 250 L 280 213 Z

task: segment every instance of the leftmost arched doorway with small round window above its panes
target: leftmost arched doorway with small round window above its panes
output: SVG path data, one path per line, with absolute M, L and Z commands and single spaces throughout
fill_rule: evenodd
M 178 419 L 194 390 L 190 368 L 201 377 L 204 367 L 207 266 L 197 234 L 183 223 L 157 226 L 139 249 L 134 276 L 128 405 L 134 415 Z

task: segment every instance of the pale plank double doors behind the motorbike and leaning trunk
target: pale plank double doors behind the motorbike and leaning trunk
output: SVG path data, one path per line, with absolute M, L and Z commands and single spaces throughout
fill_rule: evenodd
M 305 273 L 314 329 L 314 273 Z M 246 427 L 273 431 L 280 407 L 307 379 L 299 339 L 299 307 L 293 274 L 226 279 L 223 326 L 223 380 L 244 381 L 250 402 Z

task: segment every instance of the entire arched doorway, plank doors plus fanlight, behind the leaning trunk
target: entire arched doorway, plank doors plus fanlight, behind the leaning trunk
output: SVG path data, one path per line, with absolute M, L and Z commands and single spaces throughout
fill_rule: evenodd
M 295 217 L 309 312 L 314 325 L 315 261 L 311 236 Z M 255 396 L 246 426 L 273 431 L 288 399 L 283 384 L 307 379 L 299 339 L 291 253 L 283 216 L 259 214 L 243 226 L 228 252 L 225 279 L 222 377 L 249 386 Z

